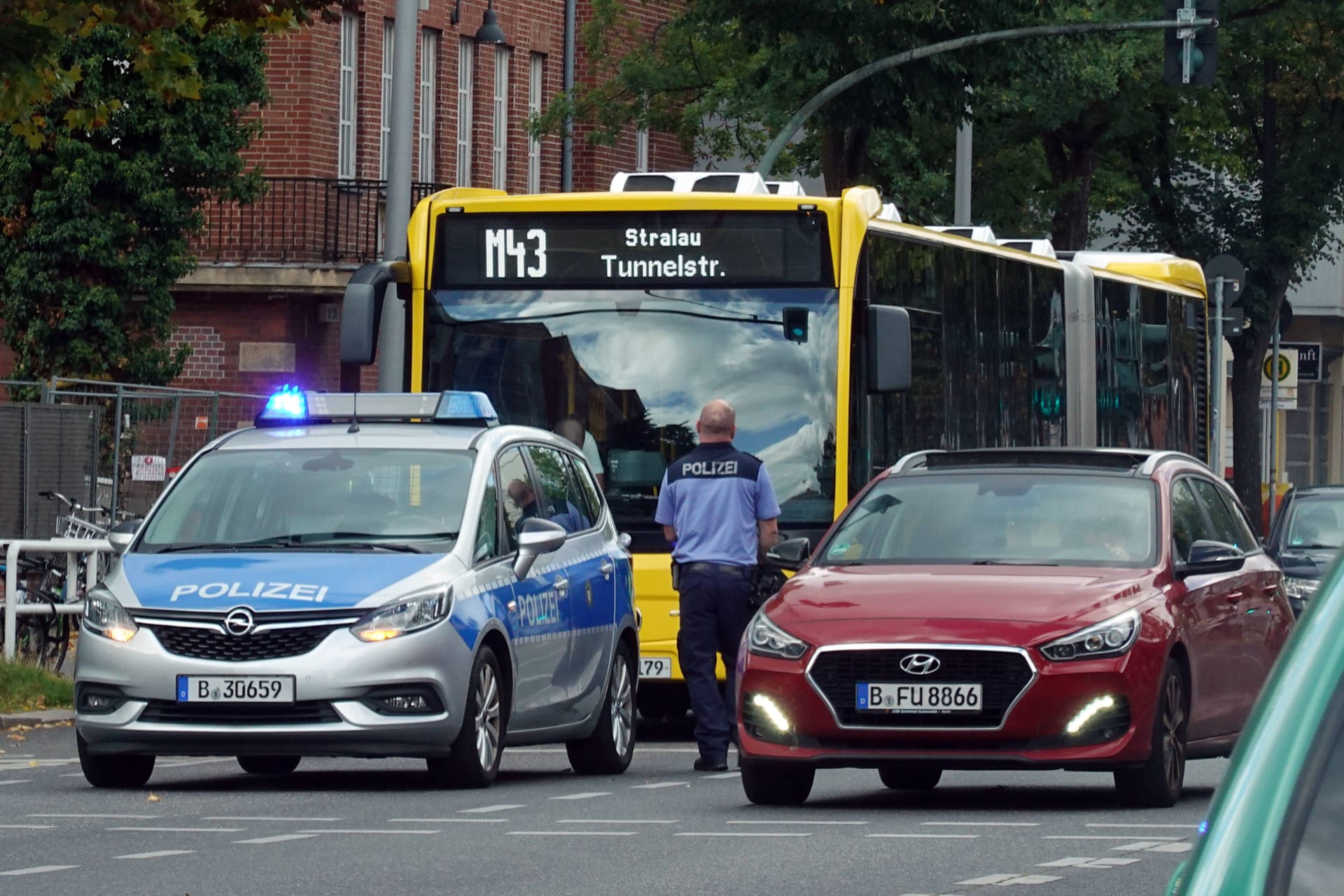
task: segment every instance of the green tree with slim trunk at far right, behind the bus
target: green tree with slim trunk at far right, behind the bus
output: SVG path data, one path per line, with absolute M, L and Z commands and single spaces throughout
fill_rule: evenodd
M 1275 5 L 1226 11 L 1216 85 L 1169 91 L 1126 124 L 1140 195 L 1120 231 L 1136 247 L 1246 265 L 1250 325 L 1228 343 L 1235 488 L 1249 508 L 1261 506 L 1265 351 L 1288 290 L 1340 249 L 1344 216 L 1344 3 Z

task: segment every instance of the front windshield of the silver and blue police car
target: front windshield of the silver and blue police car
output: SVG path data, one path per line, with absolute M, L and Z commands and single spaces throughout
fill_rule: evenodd
M 415 449 L 212 451 L 168 492 L 136 549 L 446 552 L 472 459 Z

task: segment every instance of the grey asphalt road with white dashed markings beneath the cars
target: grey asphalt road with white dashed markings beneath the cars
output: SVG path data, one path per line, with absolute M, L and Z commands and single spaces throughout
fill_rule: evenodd
M 148 789 L 99 791 L 69 725 L 26 731 L 0 737 L 0 893 L 1160 896 L 1226 768 L 1191 763 L 1168 810 L 1120 807 L 1103 774 L 949 772 L 910 794 L 874 771 L 818 772 L 775 809 L 734 771 L 691 771 L 681 731 L 655 735 L 617 778 L 528 747 L 489 790 L 429 790 L 413 760 L 258 778 L 161 758 Z

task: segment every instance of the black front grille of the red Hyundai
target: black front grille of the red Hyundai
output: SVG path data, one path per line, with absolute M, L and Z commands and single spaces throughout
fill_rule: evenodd
M 913 653 L 937 657 L 938 669 L 922 676 L 905 672 L 900 661 Z M 1034 674 L 1027 657 L 1016 650 L 973 647 L 824 650 L 808 670 L 840 724 L 863 728 L 997 728 Z M 859 682 L 978 684 L 984 703 L 980 712 L 969 713 L 862 712 L 855 699 Z

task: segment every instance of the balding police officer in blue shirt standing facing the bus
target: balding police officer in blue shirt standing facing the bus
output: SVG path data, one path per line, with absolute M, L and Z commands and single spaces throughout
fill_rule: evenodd
M 727 402 L 706 404 L 695 431 L 700 445 L 663 474 L 655 519 L 673 545 L 681 673 L 700 747 L 695 770 L 723 771 L 737 715 L 738 645 L 751 621 L 758 559 L 778 540 L 780 504 L 765 463 L 732 447 L 737 415 Z M 716 654 L 728 673 L 727 703 L 715 676 Z

